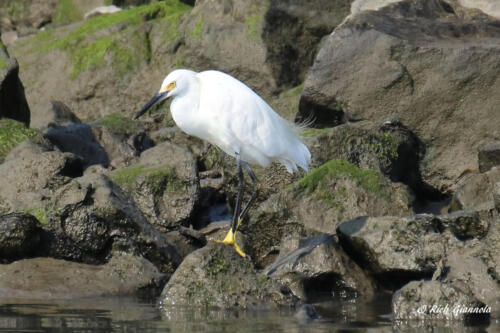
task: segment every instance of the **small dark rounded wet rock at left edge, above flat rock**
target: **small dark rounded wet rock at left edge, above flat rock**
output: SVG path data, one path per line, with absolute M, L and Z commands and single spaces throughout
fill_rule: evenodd
M 13 213 L 0 216 L 0 262 L 5 264 L 34 255 L 42 229 L 31 215 Z

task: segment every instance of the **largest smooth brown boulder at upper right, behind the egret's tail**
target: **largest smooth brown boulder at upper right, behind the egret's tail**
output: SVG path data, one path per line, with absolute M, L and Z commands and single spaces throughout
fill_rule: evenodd
M 467 15 L 455 15 L 459 7 L 401 1 L 351 15 L 318 52 L 298 116 L 314 117 L 317 127 L 399 120 L 427 144 L 423 181 L 446 191 L 477 168 L 478 147 L 499 130 L 491 121 L 500 103 L 491 38 L 500 28 L 463 7 Z M 464 132 L 464 124 L 472 125 Z

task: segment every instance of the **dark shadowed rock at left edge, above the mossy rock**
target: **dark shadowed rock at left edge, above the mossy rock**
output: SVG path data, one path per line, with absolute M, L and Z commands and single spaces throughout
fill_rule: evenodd
M 19 79 L 19 65 L 0 42 L 0 119 L 10 118 L 30 123 L 30 109 Z

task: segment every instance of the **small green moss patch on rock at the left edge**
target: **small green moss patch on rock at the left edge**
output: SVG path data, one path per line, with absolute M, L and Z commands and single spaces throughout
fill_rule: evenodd
M 0 119 L 0 162 L 21 142 L 35 138 L 40 132 L 11 119 Z

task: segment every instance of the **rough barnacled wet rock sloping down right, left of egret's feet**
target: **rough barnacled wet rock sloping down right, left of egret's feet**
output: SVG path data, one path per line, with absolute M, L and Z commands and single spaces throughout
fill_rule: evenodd
M 48 255 L 103 263 L 112 250 L 139 254 L 171 274 L 181 256 L 106 176 L 87 174 L 59 188 L 51 203 Z

